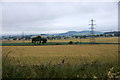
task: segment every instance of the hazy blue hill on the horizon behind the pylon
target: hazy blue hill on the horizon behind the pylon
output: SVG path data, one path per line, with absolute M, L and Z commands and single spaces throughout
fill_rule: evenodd
M 58 36 L 78 36 L 78 35 L 89 35 L 90 31 L 68 31 L 66 33 L 57 34 Z M 95 34 L 103 34 L 103 32 L 95 31 Z

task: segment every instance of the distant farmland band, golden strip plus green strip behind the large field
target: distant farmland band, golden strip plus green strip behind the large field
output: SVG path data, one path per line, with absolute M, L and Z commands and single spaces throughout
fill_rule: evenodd
M 101 37 L 96 38 L 95 43 L 90 43 L 89 38 L 85 39 L 53 39 L 48 40 L 45 45 L 69 45 L 69 42 L 72 41 L 72 44 L 120 44 L 118 42 L 118 37 Z M 31 43 L 31 40 L 3 40 L 2 43 L 0 43 L 2 46 L 34 46 L 34 45 L 42 45 L 42 44 L 36 44 Z

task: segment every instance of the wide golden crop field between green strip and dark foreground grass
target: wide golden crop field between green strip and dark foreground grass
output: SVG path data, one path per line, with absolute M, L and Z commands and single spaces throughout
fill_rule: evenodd
M 52 45 L 52 46 L 3 46 L 3 56 L 20 59 L 22 64 L 65 63 L 77 64 L 99 60 L 117 62 L 118 45 Z M 17 63 L 14 63 L 17 64 Z

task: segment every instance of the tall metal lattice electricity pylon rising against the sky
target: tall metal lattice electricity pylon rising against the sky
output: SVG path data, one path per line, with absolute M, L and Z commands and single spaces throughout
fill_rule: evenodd
M 95 43 L 96 41 L 95 41 L 95 36 L 94 36 L 94 34 L 95 34 L 95 31 L 94 31 L 94 27 L 95 27 L 95 21 L 93 20 L 93 19 L 91 19 L 90 20 L 90 29 L 91 29 L 91 31 L 90 31 L 90 43 Z

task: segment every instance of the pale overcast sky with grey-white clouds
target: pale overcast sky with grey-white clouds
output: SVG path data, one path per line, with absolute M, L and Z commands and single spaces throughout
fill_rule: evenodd
M 3 34 L 51 34 L 90 30 L 118 30 L 117 2 L 4 2 Z

